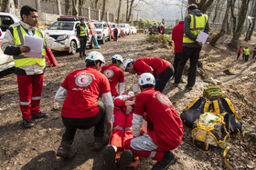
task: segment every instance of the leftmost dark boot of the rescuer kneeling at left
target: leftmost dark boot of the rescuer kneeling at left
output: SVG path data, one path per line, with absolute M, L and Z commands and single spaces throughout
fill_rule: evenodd
M 61 145 L 57 151 L 57 155 L 63 158 L 72 158 L 74 155 L 76 155 L 76 152 L 72 149 L 71 145 L 72 142 L 70 141 L 61 142 Z

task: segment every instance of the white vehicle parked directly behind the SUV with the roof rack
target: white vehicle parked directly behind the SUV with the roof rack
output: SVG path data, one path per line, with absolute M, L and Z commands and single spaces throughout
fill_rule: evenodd
M 106 39 L 111 41 L 111 31 L 109 25 L 104 21 L 94 21 L 92 22 L 95 25 L 95 31 L 97 32 L 97 39 L 102 44 L 105 43 Z

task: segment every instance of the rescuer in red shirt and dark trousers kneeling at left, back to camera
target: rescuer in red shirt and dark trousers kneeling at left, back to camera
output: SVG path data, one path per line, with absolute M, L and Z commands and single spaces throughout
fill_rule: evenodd
M 60 85 L 55 99 L 63 104 L 62 122 L 66 131 L 57 155 L 71 158 L 75 151 L 71 148 L 77 129 L 94 129 L 94 149 L 100 150 L 107 144 L 104 138 L 104 120 L 108 131 L 112 131 L 113 102 L 111 87 L 107 77 L 101 74 L 105 59 L 101 53 L 91 52 L 86 57 L 86 68 L 70 73 Z M 101 97 L 102 102 L 99 101 Z M 104 108 L 105 107 L 105 108 Z

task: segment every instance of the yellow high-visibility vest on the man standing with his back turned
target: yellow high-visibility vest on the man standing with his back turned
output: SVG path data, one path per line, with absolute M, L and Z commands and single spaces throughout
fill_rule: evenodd
M 198 35 L 200 31 L 204 31 L 205 27 L 208 22 L 208 15 L 190 15 L 191 22 L 190 22 L 190 30 L 193 35 Z M 183 43 L 195 43 L 196 41 L 191 40 L 184 34 L 183 36 Z

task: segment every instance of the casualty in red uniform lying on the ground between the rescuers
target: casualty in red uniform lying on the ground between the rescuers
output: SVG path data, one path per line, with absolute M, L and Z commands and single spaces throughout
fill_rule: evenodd
M 134 93 L 131 91 L 128 95 L 119 95 L 113 100 L 114 119 L 113 131 L 108 145 L 103 152 L 103 160 L 106 169 L 123 169 L 129 163 L 126 160 L 127 151 L 123 152 L 124 142 L 133 138 L 132 120 L 134 109 Z M 116 153 L 123 152 L 120 159 L 115 162 Z M 129 155 L 129 153 L 128 153 Z M 128 161 L 128 162 L 127 162 Z

